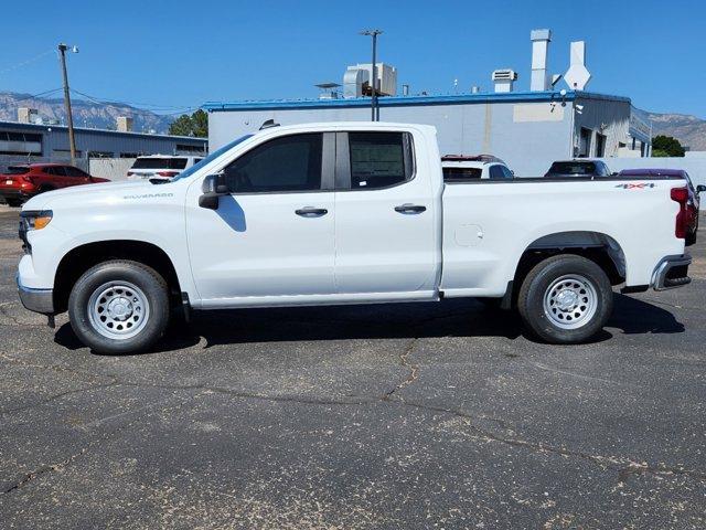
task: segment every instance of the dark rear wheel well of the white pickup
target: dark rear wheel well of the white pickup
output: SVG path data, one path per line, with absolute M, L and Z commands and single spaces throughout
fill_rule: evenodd
M 557 254 L 590 259 L 603 269 L 611 285 L 625 280 L 625 255 L 616 240 L 600 232 L 560 232 L 539 237 L 523 252 L 513 279 L 513 303 L 530 271 Z

